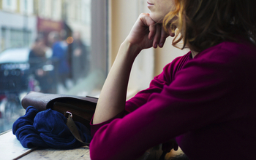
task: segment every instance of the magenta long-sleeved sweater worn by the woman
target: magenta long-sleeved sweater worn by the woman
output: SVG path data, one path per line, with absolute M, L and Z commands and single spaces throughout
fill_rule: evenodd
M 176 138 L 191 160 L 256 159 L 256 47 L 223 42 L 165 66 L 125 111 L 91 124 L 92 160 L 132 160 Z

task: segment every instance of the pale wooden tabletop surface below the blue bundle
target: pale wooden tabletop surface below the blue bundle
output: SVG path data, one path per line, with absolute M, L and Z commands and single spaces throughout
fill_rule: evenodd
M 12 130 L 4 132 L 0 135 L 0 154 L 1 160 L 10 159 L 84 159 L 90 160 L 88 147 L 75 148 L 70 150 L 58 149 L 28 149 L 23 148 Z

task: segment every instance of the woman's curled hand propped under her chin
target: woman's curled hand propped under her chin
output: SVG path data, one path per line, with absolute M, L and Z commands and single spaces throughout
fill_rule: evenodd
M 142 13 L 135 25 L 133 25 L 126 40 L 142 50 L 150 47 L 163 47 L 167 36 L 170 35 L 165 32 L 162 24 L 155 23 L 148 13 Z M 172 34 L 171 36 L 174 35 Z

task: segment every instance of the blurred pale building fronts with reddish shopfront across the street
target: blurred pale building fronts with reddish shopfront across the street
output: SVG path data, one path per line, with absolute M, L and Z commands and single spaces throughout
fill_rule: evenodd
M 0 0 L 0 17 L 0 51 L 30 47 L 38 34 L 61 30 L 91 43 L 91 0 Z

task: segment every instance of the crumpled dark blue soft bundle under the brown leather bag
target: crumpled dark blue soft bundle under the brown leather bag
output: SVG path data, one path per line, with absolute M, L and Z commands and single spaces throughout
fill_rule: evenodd
M 15 121 L 12 133 L 20 140 L 24 148 L 78 148 L 82 143 L 75 139 L 66 125 L 67 118 L 51 109 L 37 111 L 29 106 L 26 114 Z M 91 135 L 88 128 L 79 122 L 75 122 L 83 142 L 90 143 Z

